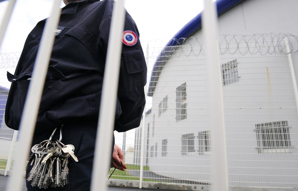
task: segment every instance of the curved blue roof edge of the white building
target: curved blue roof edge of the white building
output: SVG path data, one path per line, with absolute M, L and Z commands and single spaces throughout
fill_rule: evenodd
M 217 0 L 217 15 L 220 16 L 224 14 L 231 8 L 244 1 L 245 0 Z M 178 48 L 178 45 L 182 43 L 183 38 L 188 38 L 201 29 L 201 16 L 202 12 L 195 16 L 191 21 L 189 21 L 181 30 L 179 30 L 174 35 L 174 37 L 165 45 L 165 48 L 160 52 L 152 69 L 151 79 L 148 88 L 148 96 L 153 95 L 162 68 L 164 67 L 169 57 L 173 54 L 174 50 L 176 50 Z

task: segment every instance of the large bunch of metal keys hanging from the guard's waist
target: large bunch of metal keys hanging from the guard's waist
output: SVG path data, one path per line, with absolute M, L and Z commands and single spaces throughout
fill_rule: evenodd
M 27 164 L 31 161 L 32 169 L 28 175 L 27 181 L 31 185 L 40 189 L 48 187 L 63 187 L 69 183 L 68 178 L 68 158 L 78 162 L 74 154 L 73 145 L 64 145 L 62 139 L 62 126 L 60 128 L 59 140 L 52 141 L 52 137 L 57 128 L 53 131 L 51 137 L 31 148 L 31 153 Z

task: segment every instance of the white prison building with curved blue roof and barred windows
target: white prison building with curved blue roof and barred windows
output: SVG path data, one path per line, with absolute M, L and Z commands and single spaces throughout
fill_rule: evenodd
M 298 188 L 297 7 L 296 0 L 217 1 L 229 186 Z M 211 179 L 203 36 L 199 14 L 169 41 L 147 83 L 144 165 L 169 182 Z

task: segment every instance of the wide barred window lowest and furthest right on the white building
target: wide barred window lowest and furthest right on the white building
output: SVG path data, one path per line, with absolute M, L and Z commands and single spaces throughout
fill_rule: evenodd
M 256 124 L 259 153 L 291 152 L 291 139 L 287 121 Z

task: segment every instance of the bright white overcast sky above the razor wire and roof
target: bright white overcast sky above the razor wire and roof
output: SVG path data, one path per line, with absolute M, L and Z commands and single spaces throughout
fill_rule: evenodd
M 0 52 L 21 51 L 36 23 L 49 16 L 52 0 L 17 0 Z M 7 1 L 0 2 L 0 18 Z M 202 10 L 203 0 L 126 0 L 125 8 L 135 20 L 140 40 L 170 40 Z M 64 3 L 61 0 L 61 7 Z

